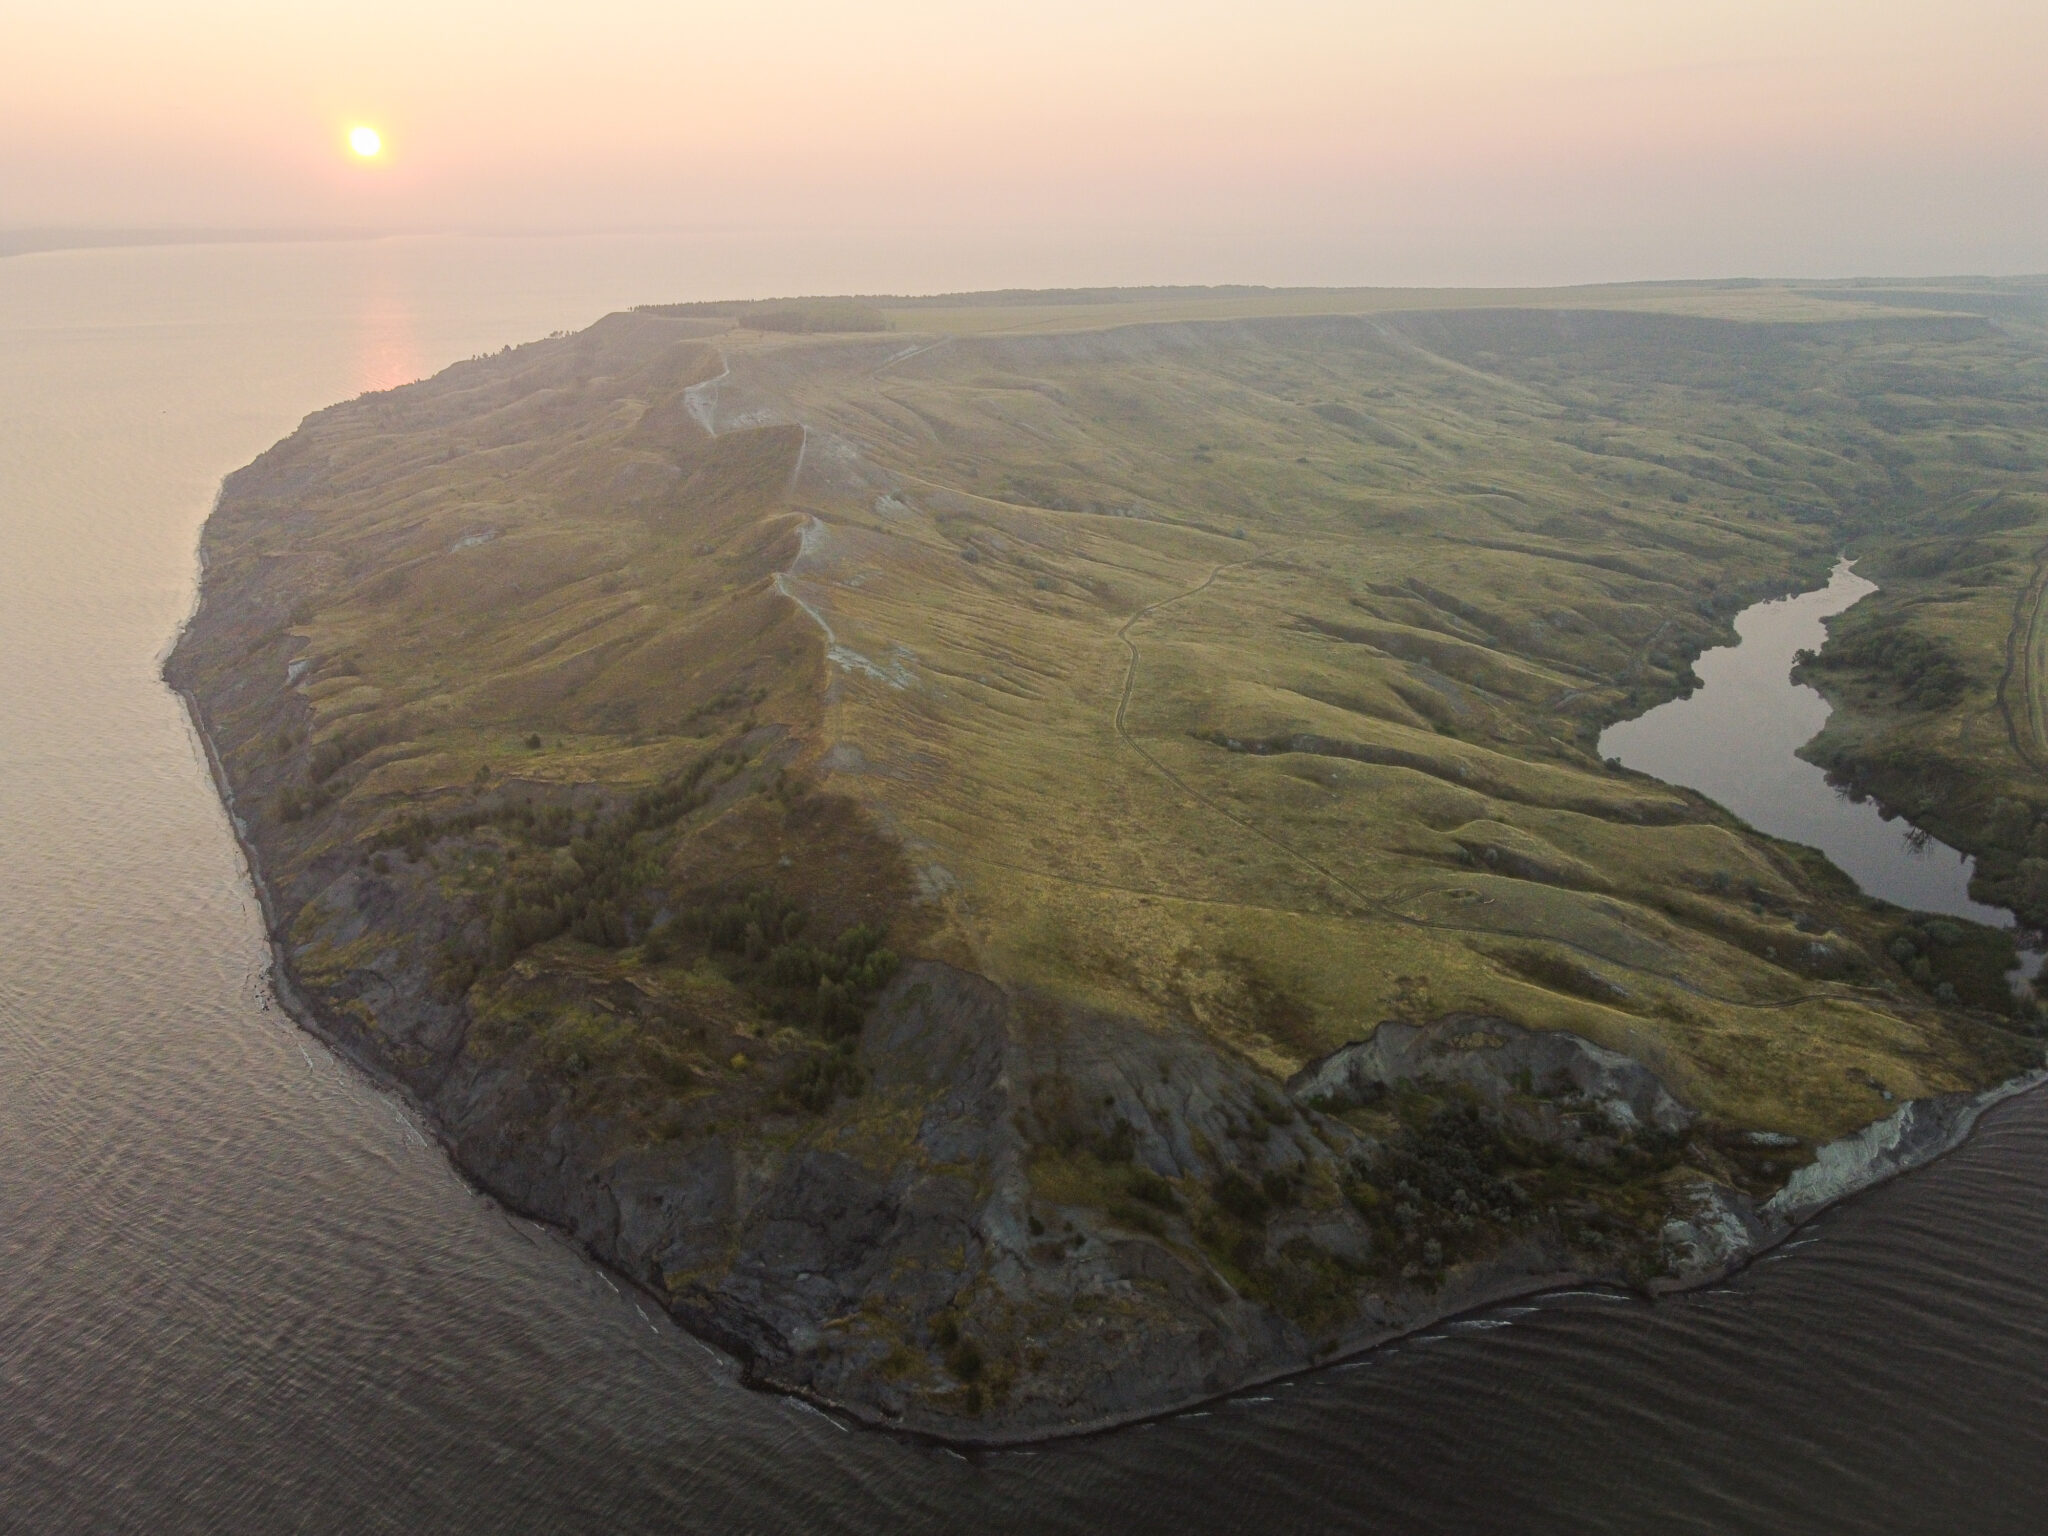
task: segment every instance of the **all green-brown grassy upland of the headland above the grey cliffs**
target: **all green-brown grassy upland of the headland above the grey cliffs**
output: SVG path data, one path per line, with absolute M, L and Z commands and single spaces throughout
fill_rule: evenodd
M 233 772 L 301 870 L 438 848 L 479 1008 L 549 967 L 674 991 L 717 946 L 649 942 L 707 891 L 815 889 L 831 932 L 1272 1075 L 1491 1012 L 1829 1137 L 2011 1069 L 1997 944 L 1901 946 L 1591 752 L 1853 545 L 1886 592 L 1823 670 L 1898 676 L 1829 750 L 2023 772 L 1982 721 L 2040 350 L 1980 293 L 1067 297 L 621 315 L 313 418 L 209 528 L 270 612 L 221 666 L 291 678 L 289 719 L 229 721 Z M 604 842 L 713 758 L 745 793 Z M 2003 788 L 2038 879 L 2048 803 Z M 805 793 L 840 807 L 815 846 Z M 829 872 L 850 846 L 885 872 Z

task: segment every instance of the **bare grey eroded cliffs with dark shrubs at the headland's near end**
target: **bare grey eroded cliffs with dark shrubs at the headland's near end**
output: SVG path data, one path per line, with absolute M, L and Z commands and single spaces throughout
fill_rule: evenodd
M 1276 1085 L 1192 1032 L 913 961 L 858 1028 L 858 1096 L 793 1112 L 737 1073 L 647 1139 L 481 1047 L 397 958 L 393 934 L 446 922 L 432 893 L 344 872 L 317 901 L 350 913 L 324 942 L 373 952 L 307 979 L 287 942 L 285 995 L 469 1178 L 750 1380 L 963 1442 L 1143 1417 L 1546 1284 L 1696 1284 L 1978 1108 L 1903 1106 L 1757 1198 L 1810 1149 L 1706 1130 L 1571 1034 L 1386 1022 Z

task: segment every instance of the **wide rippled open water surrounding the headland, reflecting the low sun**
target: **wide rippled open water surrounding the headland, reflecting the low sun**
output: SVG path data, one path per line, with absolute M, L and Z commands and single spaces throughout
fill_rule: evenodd
M 1550 1296 L 958 1458 L 735 1386 L 283 1020 L 158 680 L 219 475 L 356 389 L 707 297 L 696 270 L 655 242 L 0 262 L 0 1532 L 2048 1524 L 2042 1096 L 1724 1288 Z

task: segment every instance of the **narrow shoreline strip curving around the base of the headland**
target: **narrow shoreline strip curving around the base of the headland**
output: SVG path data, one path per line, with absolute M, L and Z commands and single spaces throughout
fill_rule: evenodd
M 190 621 L 186 621 L 186 623 L 190 623 Z M 180 635 L 182 635 L 182 629 L 184 627 L 180 625 Z M 172 647 L 174 645 L 176 645 L 176 641 L 172 641 Z M 166 647 L 166 653 L 172 647 Z M 1491 1311 L 1495 1307 L 1501 1307 L 1505 1303 L 1511 1303 L 1511 1300 L 1532 1300 L 1532 1298 L 1556 1294 L 1556 1292 L 1569 1290 L 1569 1288 L 1608 1288 L 1608 1290 L 1614 1290 L 1614 1292 L 1622 1294 L 1624 1298 L 1634 1298 L 1634 1300 L 1642 1300 L 1642 1303 L 1651 1303 L 1651 1305 L 1655 1305 L 1663 1296 L 1681 1296 L 1681 1294 L 1688 1294 L 1688 1292 L 1694 1292 L 1694 1290 L 1702 1290 L 1702 1288 L 1720 1284 L 1722 1280 L 1726 1280 L 1726 1278 L 1731 1278 L 1735 1274 L 1741 1274 L 1743 1270 L 1747 1270 L 1749 1266 L 1753 1266 L 1763 1255 L 1767 1255 L 1774 1249 L 1782 1247 L 1788 1239 L 1792 1239 L 1810 1221 L 1827 1214 L 1829 1210 L 1833 1210 L 1835 1206 L 1843 1204 L 1845 1200 L 1851 1200 L 1851 1198 L 1855 1198 L 1860 1194 L 1866 1194 L 1870 1190 L 1882 1188 L 1884 1184 L 1890 1184 L 1896 1178 L 1903 1178 L 1907 1174 L 1919 1171 L 1919 1169 L 1923 1169 L 1923 1167 L 1939 1161 L 1948 1153 L 1952 1153 L 1958 1147 L 1962 1147 L 1964 1143 L 1968 1143 L 1968 1139 L 1976 1133 L 1976 1124 L 1982 1120 L 1982 1116 L 1985 1116 L 1987 1110 L 1991 1110 L 1991 1108 L 1995 1108 L 1995 1106 L 1999 1106 L 1999 1104 L 2003 1104 L 2003 1102 L 2007 1102 L 2011 1098 L 2017 1098 L 2021 1094 L 2034 1092 L 2034 1090 L 2042 1087 L 2044 1083 L 2048 1083 L 2048 1067 L 2042 1067 L 2042 1069 L 2036 1069 L 2032 1073 L 2023 1073 L 2019 1077 L 2011 1077 L 2011 1079 L 2007 1079 L 2003 1083 L 1995 1083 L 1995 1085 L 1985 1087 L 1985 1090 L 1980 1090 L 1976 1094 L 1970 1094 L 1970 1096 L 1954 1096 L 1952 1100 L 1907 1100 L 1905 1104 L 1898 1106 L 1898 1110 L 1894 1114 L 1890 1114 L 1890 1116 L 1886 1116 L 1882 1120 L 1874 1120 L 1868 1126 L 1864 1126 L 1862 1130 L 1855 1130 L 1855 1133 L 1851 1133 L 1847 1137 L 1841 1137 L 1837 1141 L 1825 1143 L 1821 1149 L 1817 1149 L 1815 1163 L 1808 1163 L 1806 1167 L 1810 1167 L 1810 1169 L 1821 1167 L 1823 1161 L 1827 1161 L 1827 1153 L 1833 1151 L 1833 1149 L 1845 1149 L 1845 1157 L 1837 1157 L 1835 1159 L 1837 1163 L 1853 1159 L 1855 1157 L 1855 1147 L 1860 1147 L 1860 1145 L 1866 1147 L 1872 1153 L 1870 1159 L 1866 1159 L 1860 1165 L 1839 1167 L 1837 1176 L 1835 1176 L 1835 1180 L 1831 1180 L 1829 1188 L 1825 1192 L 1817 1192 L 1812 1200 L 1806 1200 L 1806 1202 L 1788 1202 L 1782 1208 L 1782 1212 L 1776 1217 L 1776 1221 L 1782 1223 L 1782 1225 L 1769 1225 L 1767 1231 L 1765 1231 L 1765 1235 L 1761 1239 L 1753 1239 L 1751 1245 L 1743 1247 L 1739 1253 L 1733 1253 L 1731 1257 L 1726 1257 L 1724 1262 L 1720 1262 L 1720 1264 L 1716 1264 L 1716 1266 L 1712 1266 L 1708 1270 L 1692 1272 L 1683 1280 L 1673 1280 L 1673 1282 L 1667 1282 L 1667 1284 L 1657 1284 L 1649 1292 L 1638 1290 L 1636 1286 L 1630 1286 L 1626 1280 L 1620 1280 L 1614 1274 L 1569 1272 L 1569 1270 L 1552 1272 L 1550 1276 L 1546 1276 L 1538 1284 L 1530 1284 L 1528 1278 L 1518 1278 L 1518 1280 L 1501 1282 L 1497 1286 L 1479 1284 L 1479 1286 L 1473 1288 L 1470 1294 L 1462 1294 L 1454 1307 L 1446 1307 L 1442 1311 L 1430 1313 L 1425 1317 L 1419 1317 L 1419 1319 L 1415 1319 L 1411 1323 L 1403 1323 L 1403 1325 L 1393 1327 L 1393 1329 L 1378 1329 L 1378 1331 L 1356 1335 L 1356 1337 L 1339 1343 L 1337 1350 L 1329 1352 L 1323 1358 L 1317 1358 L 1317 1360 L 1296 1360 L 1296 1362 L 1288 1362 L 1284 1366 L 1276 1366 L 1276 1368 L 1266 1370 L 1266 1372 L 1255 1372 L 1255 1374 L 1249 1374 L 1243 1380 L 1239 1380 L 1239 1382 L 1235 1382 L 1229 1389 L 1219 1391 L 1219 1393 L 1202 1393 L 1202 1395 L 1196 1395 L 1196 1397 L 1176 1399 L 1171 1403 L 1165 1403 L 1165 1405 L 1159 1405 L 1159 1407 L 1147 1407 L 1147 1409 L 1141 1409 L 1141 1411 L 1116 1413 L 1116 1415 L 1102 1415 L 1102 1417 L 1096 1417 L 1096 1419 L 1085 1419 L 1085 1421 L 1079 1421 L 1079 1423 L 1063 1423 L 1063 1425 L 1055 1425 L 1055 1427 L 1020 1430 L 1020 1432 L 1014 1432 L 1014 1434 L 1004 1434 L 1004 1432 L 991 1432 L 991 1434 L 983 1434 L 983 1436 L 940 1434 L 936 1430 L 926 1430 L 926 1427 L 918 1427 L 918 1425 L 911 1425 L 911 1423 L 899 1423 L 899 1421 L 893 1421 L 893 1419 L 889 1419 L 889 1417 L 885 1417 L 881 1413 L 874 1413 L 870 1409 L 860 1409 L 856 1405 L 842 1403 L 842 1401 L 825 1397 L 821 1393 L 813 1393 L 813 1391 L 809 1391 L 805 1386 L 788 1384 L 788 1382 L 778 1382 L 772 1376 L 758 1374 L 754 1370 L 754 1366 L 745 1358 L 735 1356 L 717 1337 L 707 1337 L 705 1333 L 698 1333 L 696 1329 L 684 1325 L 664 1298 L 655 1296 L 643 1282 L 639 1282 L 633 1276 L 625 1274 L 623 1270 L 616 1270 L 614 1266 L 606 1264 L 586 1243 L 582 1243 L 575 1237 L 571 1237 L 559 1223 L 549 1221 L 547 1217 L 543 1217 L 539 1212 L 532 1212 L 532 1210 L 526 1210 L 520 1204 L 508 1200 L 500 1190 L 483 1184 L 467 1167 L 463 1167 L 461 1159 L 455 1155 L 453 1145 L 449 1143 L 449 1137 L 446 1137 L 446 1130 L 440 1124 L 440 1118 L 428 1106 L 420 1104 L 420 1100 L 414 1098 L 403 1087 L 403 1083 L 397 1083 L 397 1081 L 385 1077 L 383 1073 L 379 1073 L 375 1067 L 371 1067 L 360 1057 L 356 1057 L 352 1051 L 348 1051 L 346 1044 L 342 1040 L 338 1040 L 330 1030 L 322 1028 L 317 1010 L 313 1010 L 305 1001 L 305 997 L 299 993 L 299 989 L 297 989 L 297 985 L 295 985 L 295 981 L 291 977 L 291 958 L 285 952 L 285 944 L 283 944 L 283 940 L 276 934 L 274 901 L 272 901 L 268 885 L 264 883 L 262 868 L 260 868 L 258 858 L 256 858 L 256 846 L 250 842 L 248 831 L 244 829 L 242 817 L 240 817 L 240 813 L 236 809 L 233 786 L 227 782 L 227 768 L 225 768 L 225 764 L 219 758 L 219 752 L 217 752 L 217 748 L 213 743 L 213 735 L 207 731 L 207 723 L 205 723 L 205 715 L 201 711 L 201 705 L 199 705 L 199 700 L 188 690 L 178 688 L 178 686 L 170 684 L 168 680 L 166 680 L 166 686 L 184 705 L 186 719 L 190 721 L 193 733 L 197 735 L 201 752 L 205 756 L 207 772 L 213 778 L 215 795 L 219 797 L 219 805 L 221 805 L 221 809 L 227 815 L 227 827 L 229 827 L 229 831 L 231 831 L 231 836 L 236 840 L 236 846 L 242 850 L 242 862 L 244 862 L 244 868 L 248 870 L 250 889 L 254 891 L 258 911 L 262 913 L 264 944 L 268 946 L 268 954 L 270 954 L 270 965 L 268 965 L 270 991 L 276 995 L 279 1008 L 293 1020 L 293 1024 L 297 1024 L 301 1030 L 305 1030 L 315 1040 L 319 1040 L 336 1059 L 340 1059 L 340 1061 L 348 1063 L 350 1067 L 354 1067 L 379 1092 L 397 1098 L 408 1110 L 412 1110 L 412 1114 L 420 1120 L 422 1128 L 428 1130 L 434 1137 L 436 1145 L 440 1147 L 442 1155 L 446 1157 L 449 1169 L 467 1188 L 471 1188 L 477 1194 L 489 1198 L 494 1204 L 498 1204 L 508 1214 L 522 1217 L 522 1219 L 526 1219 L 526 1221 L 530 1221 L 530 1223 L 547 1229 L 557 1239 L 561 1239 L 563 1243 L 567 1243 L 584 1262 L 594 1264 L 608 1278 L 616 1276 L 618 1282 L 631 1286 L 637 1294 L 643 1294 L 649 1300 L 653 1300 L 655 1307 L 659 1307 L 662 1315 L 670 1321 L 672 1327 L 676 1327 L 680 1333 L 688 1335 L 694 1343 L 711 1348 L 723 1360 L 731 1362 L 733 1368 L 735 1368 L 735 1380 L 741 1386 L 745 1386 L 750 1391 L 772 1393 L 776 1397 L 788 1397 L 793 1401 L 807 1403 L 813 1409 L 825 1411 L 825 1413 L 829 1413 L 829 1415 L 834 1415 L 838 1419 L 844 1419 L 844 1421 L 848 1421 L 852 1425 L 858 1425 L 862 1430 L 872 1430 L 872 1432 L 897 1436 L 897 1438 L 903 1438 L 903 1440 L 915 1440 L 915 1442 L 924 1442 L 924 1444 L 930 1444 L 930 1446 L 940 1446 L 940 1448 L 946 1448 L 946 1450 L 961 1450 L 961 1452 L 1014 1450 L 1014 1448 L 1024 1448 L 1024 1446 L 1053 1444 L 1053 1442 L 1061 1442 L 1061 1440 L 1087 1440 L 1087 1438 L 1094 1438 L 1094 1436 L 1114 1434 L 1118 1430 L 1133 1430 L 1133 1427 L 1143 1425 L 1143 1423 L 1159 1423 L 1159 1421 L 1165 1421 L 1165 1419 L 1184 1417 L 1184 1415 L 1200 1411 L 1204 1407 L 1210 1407 L 1210 1405 L 1217 1405 L 1217 1403 L 1227 1403 L 1229 1399 L 1239 1397 L 1241 1393 L 1247 1393 L 1247 1391 L 1253 1391 L 1253 1389 L 1260 1389 L 1260 1386 L 1272 1386 L 1272 1384 L 1278 1384 L 1278 1382 L 1284 1382 L 1284 1380 L 1296 1380 L 1296 1378 L 1311 1376 L 1311 1374 L 1317 1374 L 1317 1372 L 1323 1372 L 1323 1370 L 1331 1370 L 1335 1366 L 1352 1364 L 1352 1362 L 1362 1360 L 1362 1358 L 1366 1358 L 1366 1356 L 1370 1356 L 1370 1354 L 1374 1354 L 1378 1350 L 1384 1350 L 1384 1348 L 1389 1348 L 1393 1343 L 1399 1343 L 1403 1339 L 1411 1339 L 1417 1333 L 1423 1333 L 1427 1329 L 1440 1327 L 1444 1323 L 1454 1323 L 1454 1321 L 1464 1319 L 1464 1317 L 1487 1313 L 1487 1311 Z M 1892 1141 L 1886 1141 L 1884 1133 L 1882 1133 L 1882 1126 L 1890 1126 L 1894 1122 L 1903 1122 L 1901 1130 L 1907 1130 L 1907 1128 L 1911 1128 L 1911 1122 L 1919 1114 L 1917 1106 L 1942 1106 L 1942 1104 L 1948 1104 L 1948 1110 L 1933 1108 L 1933 1110 L 1927 1110 L 1927 1112 L 1946 1118 L 1946 1124 L 1939 1124 L 1935 1128 L 1935 1133 L 1931 1137 L 1927 1137 L 1925 1141 L 1907 1147 L 1903 1159 L 1886 1159 L 1884 1157 L 1886 1153 L 1890 1153 L 1890 1151 L 1894 1151 L 1898 1147 L 1898 1139 L 1894 1137 Z M 1796 1176 L 1776 1196 L 1772 1196 L 1772 1200 L 1767 1200 L 1761 1206 L 1757 1206 L 1755 1219 L 1759 1223 L 1767 1219 L 1767 1212 L 1772 1212 L 1772 1206 L 1776 1206 L 1786 1194 L 1792 1192 L 1794 1182 L 1796 1182 Z

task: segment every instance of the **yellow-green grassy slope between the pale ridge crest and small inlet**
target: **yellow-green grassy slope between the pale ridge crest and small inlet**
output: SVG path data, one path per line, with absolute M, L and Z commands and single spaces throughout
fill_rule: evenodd
M 1954 317 L 1458 311 L 819 371 L 791 410 L 897 489 L 813 489 L 805 590 L 915 657 L 831 729 L 991 973 L 1274 1073 L 1376 1018 L 1501 1012 L 1839 1133 L 1872 1083 L 2009 1057 L 1890 961 L 1894 915 L 1589 743 L 1925 494 L 1825 387 L 2025 356 Z

